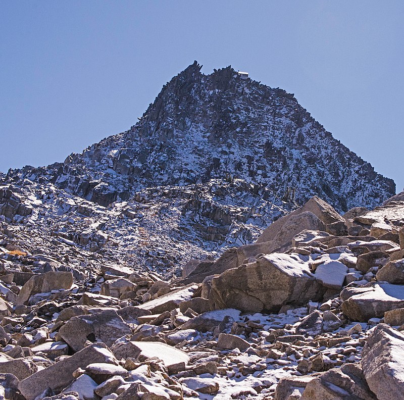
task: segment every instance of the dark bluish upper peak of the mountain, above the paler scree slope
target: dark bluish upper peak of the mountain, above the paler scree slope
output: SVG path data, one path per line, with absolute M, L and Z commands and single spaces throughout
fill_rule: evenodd
M 231 67 L 211 75 L 200 68 L 194 62 L 164 85 L 129 131 L 49 166 L 50 179 L 104 206 L 142 187 L 212 178 L 238 178 L 299 204 L 317 194 L 339 211 L 394 194 L 392 180 L 334 139 L 293 94 L 243 80 Z

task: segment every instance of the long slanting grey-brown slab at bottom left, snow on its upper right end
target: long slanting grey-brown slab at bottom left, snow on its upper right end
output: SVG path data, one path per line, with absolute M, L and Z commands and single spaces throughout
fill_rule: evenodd
M 71 357 L 44 368 L 22 380 L 18 388 L 27 400 L 34 400 L 48 387 L 60 392 L 73 381 L 73 372 L 77 368 L 85 369 L 92 363 L 118 364 L 118 360 L 104 343 L 91 344 Z

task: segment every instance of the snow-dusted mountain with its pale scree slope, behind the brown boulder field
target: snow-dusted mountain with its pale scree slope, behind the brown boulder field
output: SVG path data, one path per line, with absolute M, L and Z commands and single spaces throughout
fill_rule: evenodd
M 231 67 L 210 75 L 200 68 L 194 62 L 164 85 L 130 130 L 64 163 L 0 175 L 0 189 L 24 204 L 10 209 L 4 194 L 5 222 L 31 224 L 42 241 L 58 228 L 56 236 L 102 254 L 108 244 L 80 242 L 87 213 L 90 235 L 105 231 L 120 249 L 111 254 L 164 270 L 251 242 L 315 194 L 339 212 L 394 194 L 391 179 L 334 139 L 293 94 L 241 79 Z M 51 197 L 43 194 L 49 187 Z M 177 262 L 147 261 L 159 248 Z

